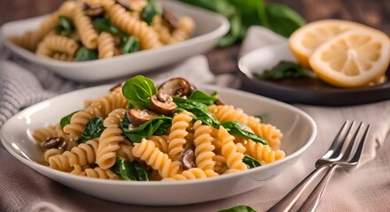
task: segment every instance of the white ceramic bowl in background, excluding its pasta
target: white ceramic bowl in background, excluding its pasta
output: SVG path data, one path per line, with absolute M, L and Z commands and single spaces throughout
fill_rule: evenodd
M 194 19 L 196 29 L 191 39 L 164 46 L 160 49 L 142 50 L 108 59 L 86 62 L 62 62 L 50 58 L 37 57 L 34 53 L 20 48 L 6 39 L 12 35 L 23 34 L 27 30 L 36 29 L 43 21 L 44 16 L 4 24 L 0 28 L 0 38 L 13 53 L 26 58 L 32 63 L 40 64 L 66 79 L 93 82 L 145 72 L 153 68 L 183 61 L 187 57 L 202 54 L 209 49 L 213 49 L 218 39 L 229 31 L 229 21 L 219 14 L 172 0 L 164 0 L 160 1 L 160 3 L 164 8 L 173 11 L 177 15 L 186 15 Z

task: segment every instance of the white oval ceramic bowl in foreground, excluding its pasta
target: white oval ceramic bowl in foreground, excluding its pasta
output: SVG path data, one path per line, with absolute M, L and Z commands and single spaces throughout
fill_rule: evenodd
M 43 175 L 101 199 L 141 205 L 183 205 L 230 197 L 268 183 L 291 167 L 316 137 L 316 123 L 313 119 L 291 105 L 225 87 L 197 86 L 209 93 L 217 91 L 223 102 L 242 108 L 248 114 L 266 114 L 266 122 L 276 125 L 284 133 L 281 148 L 285 150 L 286 157 L 252 170 L 177 182 L 85 178 L 36 163 L 43 160 L 43 150 L 32 139 L 32 131 L 58 123 L 66 114 L 80 110 L 84 100 L 102 96 L 110 87 L 74 91 L 21 111 L 0 129 L 4 147 L 22 163 Z

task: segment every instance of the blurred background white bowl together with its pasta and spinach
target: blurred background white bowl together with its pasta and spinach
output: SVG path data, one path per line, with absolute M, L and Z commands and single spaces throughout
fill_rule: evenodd
M 46 16 L 5 24 L 0 35 L 20 57 L 97 81 L 204 53 L 228 30 L 222 16 L 176 1 L 66 0 Z

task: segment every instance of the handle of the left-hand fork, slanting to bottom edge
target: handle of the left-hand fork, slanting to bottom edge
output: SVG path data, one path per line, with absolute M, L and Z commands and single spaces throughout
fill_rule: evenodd
M 304 178 L 300 184 L 292 188 L 292 190 L 285 195 L 285 197 L 278 201 L 272 208 L 267 210 L 268 212 L 287 212 L 289 211 L 295 202 L 300 198 L 300 195 L 307 189 L 307 187 L 313 182 L 313 180 L 323 172 L 323 170 L 329 168 L 329 164 L 324 164 L 316 170 L 313 170 L 308 177 Z

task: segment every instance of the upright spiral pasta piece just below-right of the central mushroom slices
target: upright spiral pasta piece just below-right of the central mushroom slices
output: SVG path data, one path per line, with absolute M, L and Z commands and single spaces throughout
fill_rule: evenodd
M 184 152 L 187 128 L 190 126 L 192 117 L 187 112 L 181 112 L 172 119 L 170 133 L 168 135 L 168 155 L 172 160 L 179 160 Z

